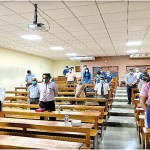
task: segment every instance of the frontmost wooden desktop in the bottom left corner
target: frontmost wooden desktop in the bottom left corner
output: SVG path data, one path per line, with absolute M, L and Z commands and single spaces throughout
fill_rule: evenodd
M 79 149 L 82 143 L 0 135 L 0 148 Z

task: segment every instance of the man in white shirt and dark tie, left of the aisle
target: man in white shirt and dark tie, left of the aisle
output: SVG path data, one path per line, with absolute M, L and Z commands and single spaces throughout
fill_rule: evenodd
M 107 82 L 105 82 L 105 78 L 100 76 L 100 83 L 95 85 L 95 94 L 100 98 L 110 99 L 110 87 Z M 99 105 L 104 105 L 105 103 L 99 102 Z

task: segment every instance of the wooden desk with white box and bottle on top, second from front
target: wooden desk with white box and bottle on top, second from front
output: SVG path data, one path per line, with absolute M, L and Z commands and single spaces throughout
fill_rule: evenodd
M 93 125 L 94 124 L 82 123 L 81 127 L 73 127 L 71 123 L 69 123 L 69 126 L 65 126 L 64 122 L 56 122 L 56 121 L 41 121 L 41 120 L 12 119 L 12 118 L 1 118 L 0 120 L 0 127 L 8 127 L 9 129 L 10 128 L 13 129 L 13 131 L 15 131 L 16 128 L 22 129 L 22 136 L 32 136 L 40 138 L 47 137 L 49 139 L 54 140 L 81 142 L 86 144 L 87 148 L 90 147 L 90 130 L 93 130 L 92 129 Z M 41 133 L 40 131 L 44 132 Z M 47 134 L 46 136 L 42 136 L 45 132 L 49 134 Z M 55 133 L 55 135 L 53 136 L 50 133 L 52 134 Z M 62 133 L 64 135 L 67 135 L 67 137 L 63 136 Z M 79 135 L 82 135 L 82 138 Z

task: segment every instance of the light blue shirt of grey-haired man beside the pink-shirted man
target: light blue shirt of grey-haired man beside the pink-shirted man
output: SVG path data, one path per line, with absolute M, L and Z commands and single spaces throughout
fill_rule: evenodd
M 39 85 L 30 85 L 28 87 L 28 92 L 30 93 L 30 98 L 39 98 L 40 97 L 40 90 Z

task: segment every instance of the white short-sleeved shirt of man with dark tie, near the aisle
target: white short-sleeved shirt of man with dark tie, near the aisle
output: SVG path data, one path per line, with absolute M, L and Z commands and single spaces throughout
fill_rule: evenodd
M 102 87 L 101 83 L 95 84 L 94 90 L 97 91 L 98 95 L 101 95 L 101 87 Z M 104 88 L 104 95 L 107 95 L 108 91 L 110 90 L 109 84 L 104 82 L 103 83 L 103 88 Z

